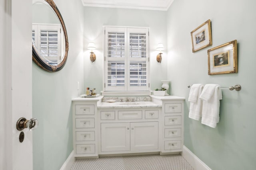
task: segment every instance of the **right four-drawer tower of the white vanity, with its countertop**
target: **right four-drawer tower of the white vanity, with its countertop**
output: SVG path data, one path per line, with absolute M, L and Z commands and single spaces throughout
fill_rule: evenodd
M 151 98 L 153 102 L 162 104 L 161 153 L 182 151 L 185 98 L 177 96 L 151 96 Z

